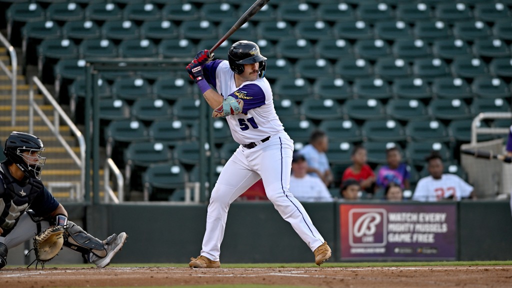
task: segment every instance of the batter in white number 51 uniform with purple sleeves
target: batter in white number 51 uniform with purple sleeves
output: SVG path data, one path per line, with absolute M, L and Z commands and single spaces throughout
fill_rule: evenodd
M 289 192 L 293 141 L 274 110 L 272 90 L 264 78 L 267 58 L 249 41 L 234 43 L 227 61 L 212 60 L 213 56 L 208 50 L 200 51 L 186 69 L 214 109 L 212 117 L 226 117 L 240 147 L 211 192 L 201 255 L 191 258 L 189 266 L 220 267 L 229 205 L 260 178 L 275 209 L 291 223 L 313 251 L 315 263 L 321 265 L 331 257 L 331 249 Z

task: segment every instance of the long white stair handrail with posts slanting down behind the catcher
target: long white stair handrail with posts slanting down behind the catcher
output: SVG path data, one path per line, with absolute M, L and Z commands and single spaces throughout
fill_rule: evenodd
M 53 114 L 54 114 L 54 120 L 53 123 L 48 119 L 46 114 L 41 110 L 39 105 L 34 101 L 34 85 L 37 86 L 37 88 L 42 92 L 42 95 L 45 96 L 46 100 L 50 102 L 50 104 L 53 106 Z M 85 163 L 86 163 L 86 139 L 83 136 L 82 132 L 76 127 L 74 122 L 68 117 L 66 112 L 62 110 L 60 105 L 57 103 L 57 101 L 53 98 L 52 94 L 46 89 L 46 87 L 41 83 L 39 78 L 36 76 L 31 78 L 30 83 L 30 93 L 29 93 L 29 133 L 34 134 L 34 110 L 39 114 L 41 119 L 45 122 L 45 124 L 50 128 L 50 131 L 53 132 L 55 137 L 59 140 L 59 142 L 62 144 L 64 149 L 66 149 L 66 152 L 71 156 L 73 161 L 77 164 L 77 166 L 80 168 L 80 191 L 77 192 L 77 199 L 81 199 L 83 197 L 83 187 L 85 186 Z M 73 134 L 75 134 L 78 145 L 80 146 L 80 158 L 76 156 L 73 149 L 69 146 L 68 142 L 62 137 L 62 135 L 59 132 L 59 122 L 60 118 L 62 118 L 66 124 L 69 126 Z

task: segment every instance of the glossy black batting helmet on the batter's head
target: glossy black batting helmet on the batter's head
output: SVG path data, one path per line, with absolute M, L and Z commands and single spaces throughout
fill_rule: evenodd
M 260 47 L 254 42 L 239 41 L 229 48 L 227 52 L 229 67 L 236 74 L 244 73 L 244 64 L 260 63 L 260 78 L 265 77 L 265 69 L 267 68 L 267 58 L 260 53 Z

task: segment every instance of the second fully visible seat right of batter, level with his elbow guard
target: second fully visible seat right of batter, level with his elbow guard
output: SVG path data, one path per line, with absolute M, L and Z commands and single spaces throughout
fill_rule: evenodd
M 377 99 L 348 99 L 343 105 L 343 112 L 358 120 L 383 119 L 386 116 L 382 102 Z

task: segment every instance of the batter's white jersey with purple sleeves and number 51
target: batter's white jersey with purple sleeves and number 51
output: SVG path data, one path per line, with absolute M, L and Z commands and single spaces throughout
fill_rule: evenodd
M 236 87 L 234 72 L 226 60 L 214 60 L 203 67 L 204 78 L 224 99 L 232 96 L 244 101 L 242 113 L 227 116 L 233 139 L 240 144 L 260 141 L 284 131 L 275 113 L 272 90 L 265 78 L 246 81 Z

